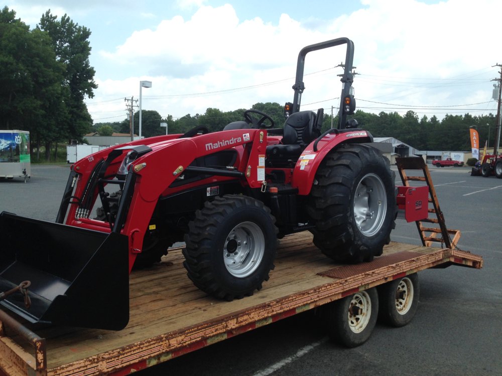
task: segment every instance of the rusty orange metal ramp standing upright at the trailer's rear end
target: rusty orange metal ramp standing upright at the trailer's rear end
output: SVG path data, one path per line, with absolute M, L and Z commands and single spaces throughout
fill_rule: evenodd
M 446 248 L 455 248 L 460 239 L 460 231 L 446 228 L 443 212 L 439 208 L 436 190 L 434 189 L 429 168 L 425 161 L 420 157 L 398 157 L 396 158 L 396 165 L 405 186 L 411 186 L 410 181 L 425 181 L 429 187 L 429 217 L 415 222 L 422 244 L 426 247 L 431 247 L 434 242 L 437 242 Z M 409 176 L 406 172 L 407 170 L 421 170 L 423 176 Z M 419 174 L 414 172 L 414 175 Z M 430 204 L 432 204 L 432 207 Z M 432 218 L 430 214 L 433 214 Z M 426 226 L 424 226 L 424 222 L 427 224 Z

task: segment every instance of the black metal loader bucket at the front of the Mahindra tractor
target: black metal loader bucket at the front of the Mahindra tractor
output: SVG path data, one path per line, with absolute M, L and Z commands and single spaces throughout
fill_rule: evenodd
M 128 237 L 0 214 L 0 291 L 30 281 L 29 308 L 0 301 L 30 322 L 123 329 L 129 321 Z

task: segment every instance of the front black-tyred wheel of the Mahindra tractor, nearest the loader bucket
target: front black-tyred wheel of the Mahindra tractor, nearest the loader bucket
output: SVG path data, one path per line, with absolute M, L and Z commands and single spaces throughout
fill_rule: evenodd
M 218 197 L 207 201 L 188 227 L 183 265 L 202 291 L 230 301 L 253 295 L 269 279 L 278 229 L 261 201 Z

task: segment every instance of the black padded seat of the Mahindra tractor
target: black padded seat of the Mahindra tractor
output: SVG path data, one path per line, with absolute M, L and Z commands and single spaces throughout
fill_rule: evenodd
M 284 123 L 280 144 L 267 146 L 267 161 L 271 167 L 292 167 L 305 147 L 319 137 L 324 111 L 292 113 Z

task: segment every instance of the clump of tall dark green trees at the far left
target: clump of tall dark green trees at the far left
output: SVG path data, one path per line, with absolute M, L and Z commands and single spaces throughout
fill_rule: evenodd
M 16 12 L 0 12 L 0 129 L 30 131 L 32 150 L 92 129 L 84 98 L 97 88 L 89 29 L 48 10 L 32 30 Z M 37 155 L 39 158 L 40 155 Z

